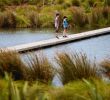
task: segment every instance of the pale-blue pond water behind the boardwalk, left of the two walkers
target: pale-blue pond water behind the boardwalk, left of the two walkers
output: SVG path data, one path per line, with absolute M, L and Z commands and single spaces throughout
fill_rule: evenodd
M 0 47 L 15 46 L 55 37 L 53 30 L 0 30 Z

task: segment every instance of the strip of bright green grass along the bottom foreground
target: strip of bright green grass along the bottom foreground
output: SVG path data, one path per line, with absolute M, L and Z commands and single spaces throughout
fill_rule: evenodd
M 15 82 L 10 76 L 0 80 L 1 100 L 109 100 L 110 84 L 101 80 L 74 81 L 64 87 L 52 87 L 37 82 Z

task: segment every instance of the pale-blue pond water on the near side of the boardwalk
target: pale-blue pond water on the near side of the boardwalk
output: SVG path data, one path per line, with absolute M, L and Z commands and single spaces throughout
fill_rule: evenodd
M 43 49 L 42 51 L 54 65 L 56 65 L 54 57 L 57 52 L 85 53 L 91 61 L 100 63 L 105 58 L 110 58 L 110 34 L 54 46 L 48 49 Z M 57 76 L 54 77 L 53 84 L 55 86 L 62 86 L 62 83 Z

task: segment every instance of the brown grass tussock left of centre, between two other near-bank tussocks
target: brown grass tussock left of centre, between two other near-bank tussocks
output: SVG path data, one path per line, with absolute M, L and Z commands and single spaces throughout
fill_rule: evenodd
M 31 80 L 44 83 L 52 81 L 54 76 L 53 66 L 43 54 L 30 54 L 28 55 L 28 59 L 28 74 Z

